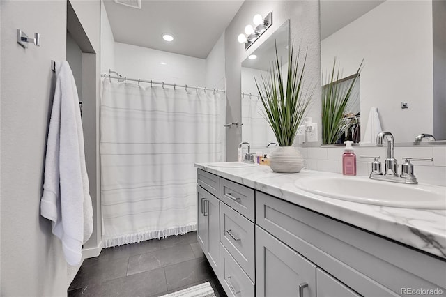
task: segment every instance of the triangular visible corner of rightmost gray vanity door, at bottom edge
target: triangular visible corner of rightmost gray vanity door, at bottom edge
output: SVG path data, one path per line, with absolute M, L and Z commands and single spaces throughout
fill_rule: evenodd
M 321 268 L 316 268 L 316 280 L 318 297 L 361 297 Z

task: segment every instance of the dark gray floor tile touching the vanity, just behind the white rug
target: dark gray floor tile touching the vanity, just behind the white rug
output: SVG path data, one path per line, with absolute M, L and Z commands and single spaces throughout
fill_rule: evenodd
M 167 290 L 174 290 L 213 277 L 211 270 L 212 268 L 210 268 L 206 258 L 193 259 L 167 266 L 164 268 Z

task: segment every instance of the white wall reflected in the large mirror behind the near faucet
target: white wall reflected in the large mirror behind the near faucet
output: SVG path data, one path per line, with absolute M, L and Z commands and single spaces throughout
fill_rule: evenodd
M 375 106 L 383 130 L 410 142 L 433 132 L 432 46 L 431 1 L 385 1 L 322 41 L 322 70 L 330 70 L 336 56 L 346 77 L 365 58 L 362 130 Z M 401 109 L 403 101 L 408 109 Z

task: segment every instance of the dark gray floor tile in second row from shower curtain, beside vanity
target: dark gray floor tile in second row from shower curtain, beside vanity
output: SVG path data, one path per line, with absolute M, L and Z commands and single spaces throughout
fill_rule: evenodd
M 147 254 L 132 256 L 128 262 L 127 275 L 151 271 L 156 268 L 177 264 L 183 261 L 194 259 L 190 244 L 178 245 L 174 248 L 165 248 Z

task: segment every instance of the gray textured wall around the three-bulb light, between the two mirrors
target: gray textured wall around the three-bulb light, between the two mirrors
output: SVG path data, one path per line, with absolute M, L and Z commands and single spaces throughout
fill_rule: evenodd
M 272 11 L 272 26 L 263 33 L 259 40 L 245 50 L 245 45 L 238 43 L 237 36 L 243 33 L 245 26 L 252 23 L 257 13 L 265 16 Z M 318 1 L 245 1 L 225 31 L 225 70 L 226 70 L 226 122 L 241 121 L 241 62 L 249 56 L 279 26 L 290 19 L 291 38 L 294 39 L 295 50 L 307 50 L 306 84 L 316 84 L 312 109 L 313 123 L 318 123 L 318 135 L 321 135 L 321 42 L 319 32 Z M 238 144 L 241 127 L 226 131 L 226 160 L 238 158 Z M 321 139 L 321 137 L 319 137 Z M 320 146 L 319 142 L 311 142 L 308 146 Z

